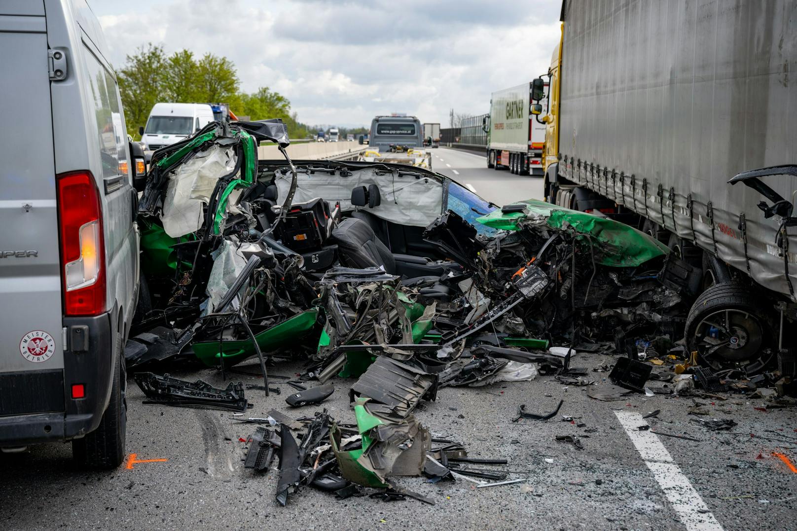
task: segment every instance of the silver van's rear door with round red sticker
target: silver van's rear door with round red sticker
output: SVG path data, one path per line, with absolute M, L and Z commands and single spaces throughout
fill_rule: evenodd
M 64 409 L 46 31 L 42 0 L 0 2 L 0 416 Z

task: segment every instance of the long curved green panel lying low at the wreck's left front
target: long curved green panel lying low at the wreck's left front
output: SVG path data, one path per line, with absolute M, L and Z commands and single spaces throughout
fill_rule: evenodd
M 257 344 L 260 345 L 263 352 L 273 352 L 278 348 L 296 344 L 298 340 L 308 336 L 316 327 L 317 317 L 318 310 L 316 309 L 297 313 L 279 325 L 274 325 L 255 334 Z M 217 366 L 223 356 L 224 366 L 231 367 L 256 354 L 252 340 L 222 341 L 221 346 L 222 352 L 218 352 L 219 342 L 217 340 L 198 341 L 194 343 L 194 355 L 208 367 Z

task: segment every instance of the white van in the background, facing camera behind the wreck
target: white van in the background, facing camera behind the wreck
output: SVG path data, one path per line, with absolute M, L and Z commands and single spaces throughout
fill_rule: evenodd
M 147 118 L 147 126 L 139 128 L 147 160 L 151 151 L 175 144 L 214 120 L 209 104 L 155 104 Z

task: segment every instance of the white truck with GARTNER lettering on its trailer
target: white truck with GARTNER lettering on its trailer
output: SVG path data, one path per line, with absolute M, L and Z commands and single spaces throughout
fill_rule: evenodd
M 545 125 L 531 112 L 531 83 L 493 92 L 485 116 L 487 167 L 508 168 L 516 175 L 543 175 Z M 540 104 L 543 108 L 546 101 Z

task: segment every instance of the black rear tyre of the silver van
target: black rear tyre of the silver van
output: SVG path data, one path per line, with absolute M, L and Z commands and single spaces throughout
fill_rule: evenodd
M 113 386 L 108 407 L 102 415 L 100 426 L 72 441 L 72 456 L 80 466 L 110 470 L 124 461 L 125 433 L 127 431 L 128 404 L 127 371 L 124 368 L 122 332 L 116 333 L 116 360 Z

